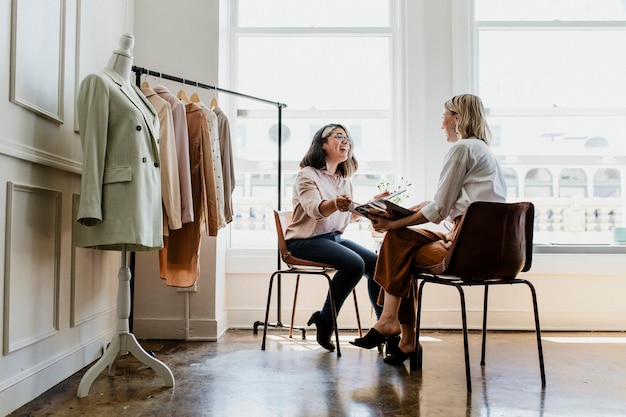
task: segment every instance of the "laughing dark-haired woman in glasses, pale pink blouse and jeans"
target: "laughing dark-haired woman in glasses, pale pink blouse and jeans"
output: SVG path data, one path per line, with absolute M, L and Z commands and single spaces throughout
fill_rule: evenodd
M 294 256 L 335 267 L 331 286 L 337 314 L 361 277 L 366 276 L 369 298 L 379 317 L 382 308 L 376 301 L 380 286 L 373 281 L 377 255 L 342 237 L 348 224 L 359 217 L 349 211 L 350 177 L 358 168 L 352 145 L 348 129 L 340 124 L 326 125 L 315 133 L 300 161 L 293 188 L 293 221 L 285 231 L 285 239 Z M 322 309 L 309 319 L 308 325 L 313 323 L 317 342 L 331 352 L 335 350 L 329 296 Z

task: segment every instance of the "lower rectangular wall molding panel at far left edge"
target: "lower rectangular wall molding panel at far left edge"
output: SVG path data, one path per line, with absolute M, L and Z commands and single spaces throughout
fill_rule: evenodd
M 58 190 L 7 182 L 5 355 L 59 331 L 61 198 Z

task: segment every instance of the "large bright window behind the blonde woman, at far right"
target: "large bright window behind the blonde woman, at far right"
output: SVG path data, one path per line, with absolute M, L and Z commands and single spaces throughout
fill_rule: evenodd
M 544 216 L 538 243 L 611 243 L 624 212 L 626 3 L 474 0 L 474 17 L 494 151 L 525 181 L 509 199 Z

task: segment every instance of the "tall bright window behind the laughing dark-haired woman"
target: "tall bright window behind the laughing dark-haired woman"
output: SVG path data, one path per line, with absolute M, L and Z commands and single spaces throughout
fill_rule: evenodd
M 231 85 L 287 104 L 282 112 L 281 208 L 291 208 L 298 164 L 317 129 L 345 124 L 360 169 L 355 199 L 395 183 L 392 123 L 395 1 L 237 0 L 231 12 Z M 231 248 L 273 248 L 278 200 L 277 111 L 237 99 L 230 119 L 237 167 Z M 234 112 L 231 112 L 231 114 Z M 355 233 L 370 237 L 362 222 Z M 369 223 L 369 222 L 367 222 Z M 363 230 L 358 229 L 362 227 Z M 371 238 L 370 238 L 371 240 Z

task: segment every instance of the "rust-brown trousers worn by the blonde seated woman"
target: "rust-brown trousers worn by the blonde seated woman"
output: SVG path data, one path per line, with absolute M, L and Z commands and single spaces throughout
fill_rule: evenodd
M 447 235 L 422 228 L 403 228 L 386 233 L 378 254 L 374 281 L 389 294 L 402 298 L 398 312 L 401 324 L 415 325 L 417 293 L 411 268 L 419 266 L 432 273 L 442 272 L 455 232 L 456 225 Z M 382 302 L 384 300 L 379 300 Z

